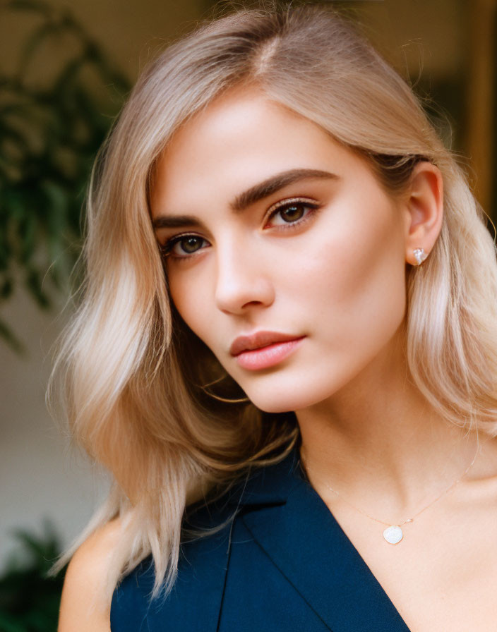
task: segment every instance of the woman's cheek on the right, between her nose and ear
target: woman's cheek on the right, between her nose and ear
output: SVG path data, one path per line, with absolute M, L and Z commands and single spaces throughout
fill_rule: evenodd
M 354 351 L 378 351 L 405 314 L 403 237 L 392 213 L 383 207 L 368 221 L 366 213 L 354 219 L 344 212 L 348 221 L 328 231 L 306 264 L 308 300 L 313 293 L 325 320 L 321 333 L 351 360 Z

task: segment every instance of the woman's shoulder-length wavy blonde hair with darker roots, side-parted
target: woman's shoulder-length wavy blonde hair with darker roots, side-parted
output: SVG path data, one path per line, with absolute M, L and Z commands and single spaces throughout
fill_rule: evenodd
M 49 401 L 61 387 L 73 437 L 113 483 L 56 569 L 99 525 L 120 516 L 110 592 L 152 554 L 154 595 L 161 585 L 167 593 L 186 507 L 284 458 L 298 439 L 293 413 L 222 401 L 243 394 L 170 305 L 150 221 L 150 178 L 174 130 L 222 92 L 248 84 L 361 154 L 392 195 L 419 160 L 438 166 L 441 233 L 423 265 L 406 272 L 409 368 L 447 420 L 497 434 L 496 250 L 455 154 L 411 87 L 334 9 L 237 8 L 150 63 L 90 181 L 85 280 Z M 202 388 L 214 382 L 220 399 Z

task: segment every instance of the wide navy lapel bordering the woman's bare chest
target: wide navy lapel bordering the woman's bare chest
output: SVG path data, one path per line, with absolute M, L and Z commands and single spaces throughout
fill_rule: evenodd
M 283 575 L 333 632 L 409 632 L 381 584 L 299 468 L 298 446 L 230 499 Z

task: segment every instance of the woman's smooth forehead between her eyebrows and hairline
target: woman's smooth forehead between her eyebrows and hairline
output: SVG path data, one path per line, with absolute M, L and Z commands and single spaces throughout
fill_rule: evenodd
M 336 173 L 358 162 L 323 128 L 260 90 L 232 90 L 180 126 L 162 152 L 150 196 L 152 216 L 159 206 L 184 208 L 202 196 L 234 197 L 282 171 Z

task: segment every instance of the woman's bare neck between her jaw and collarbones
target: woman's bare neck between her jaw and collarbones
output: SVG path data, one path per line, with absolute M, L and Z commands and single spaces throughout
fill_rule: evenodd
M 477 454 L 477 433 L 444 420 L 399 356 L 367 367 L 354 384 L 296 414 L 302 461 L 316 490 L 329 485 L 380 516 L 429 502 Z

